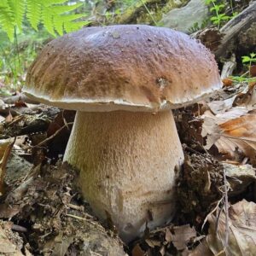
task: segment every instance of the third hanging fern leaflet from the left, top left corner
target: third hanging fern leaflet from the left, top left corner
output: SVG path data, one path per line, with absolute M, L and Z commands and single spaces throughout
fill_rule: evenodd
M 41 3 L 38 0 L 26 0 L 26 16 L 32 28 L 38 31 L 41 18 Z

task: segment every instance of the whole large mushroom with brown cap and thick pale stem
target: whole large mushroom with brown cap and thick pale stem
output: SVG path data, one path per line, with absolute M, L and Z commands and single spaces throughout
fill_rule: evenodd
M 33 99 L 77 110 L 64 160 L 124 241 L 172 220 L 183 149 L 172 116 L 222 83 L 213 55 L 169 28 L 86 27 L 47 44 L 26 76 Z

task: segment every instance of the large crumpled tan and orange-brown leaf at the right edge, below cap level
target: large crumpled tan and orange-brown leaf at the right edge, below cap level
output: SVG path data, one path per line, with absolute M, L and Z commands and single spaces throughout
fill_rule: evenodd
M 202 137 L 207 137 L 206 148 L 213 144 L 218 152 L 235 158 L 237 153 L 256 161 L 256 110 L 248 112 L 246 108 L 232 108 L 225 113 L 204 114 Z

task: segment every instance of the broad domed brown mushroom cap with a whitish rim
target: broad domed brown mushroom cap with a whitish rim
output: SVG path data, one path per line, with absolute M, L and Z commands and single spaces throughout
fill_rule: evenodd
M 165 27 L 86 27 L 47 44 L 23 88 L 59 108 L 89 112 L 180 108 L 222 86 L 211 52 Z

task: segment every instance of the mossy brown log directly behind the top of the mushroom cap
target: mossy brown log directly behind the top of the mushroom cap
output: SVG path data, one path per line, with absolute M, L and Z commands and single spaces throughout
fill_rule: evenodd
M 189 0 L 144 0 L 137 1 L 134 5 L 125 9 L 121 15 L 117 15 L 114 23 L 119 24 L 148 24 L 154 25 L 162 19 L 162 15 L 174 8 L 181 7 Z M 147 8 L 145 8 L 145 5 Z M 149 11 L 149 13 L 148 13 Z M 155 21 L 155 22 L 154 22 Z

